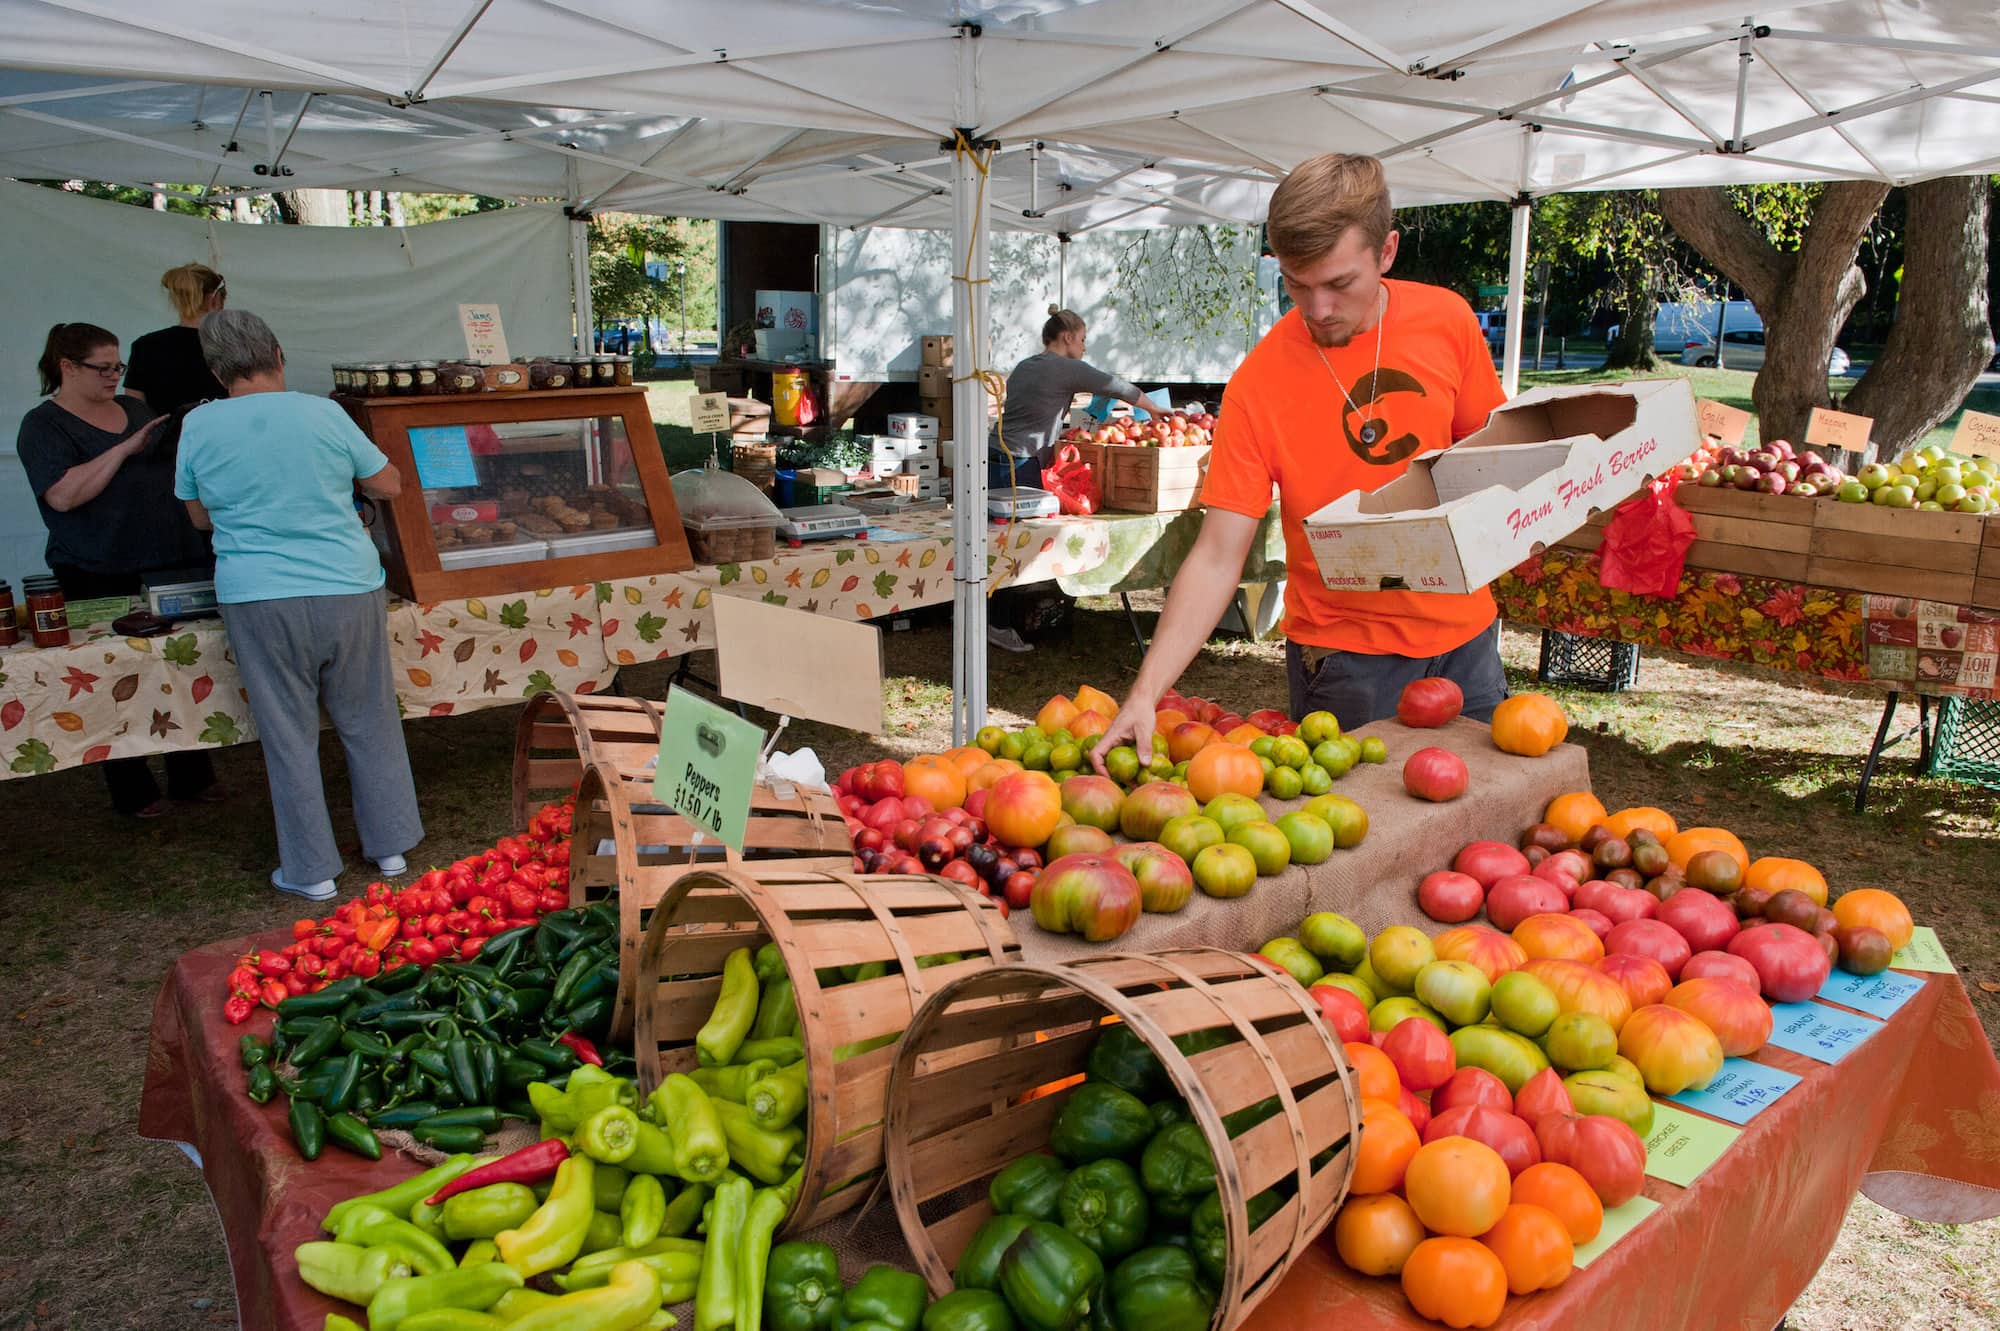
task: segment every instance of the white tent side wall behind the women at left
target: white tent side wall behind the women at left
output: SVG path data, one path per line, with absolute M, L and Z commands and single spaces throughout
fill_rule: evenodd
M 40 402 L 34 362 L 52 324 L 132 340 L 176 320 L 160 274 L 214 264 L 230 306 L 264 316 L 288 384 L 332 390 L 334 360 L 462 356 L 460 302 L 500 306 L 510 352 L 570 346 L 570 226 L 526 206 L 410 228 L 204 222 L 42 186 L 0 182 L 0 578 L 42 568 L 48 534 L 14 460 L 12 426 Z

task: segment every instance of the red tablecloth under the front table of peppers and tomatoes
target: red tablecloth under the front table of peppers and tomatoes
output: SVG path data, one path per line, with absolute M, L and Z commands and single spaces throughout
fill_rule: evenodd
M 140 1133 L 192 1143 L 222 1215 L 244 1327 L 320 1331 L 336 1305 L 292 1271 L 292 1249 L 318 1237 L 326 1209 L 416 1171 L 328 1147 L 306 1165 L 292 1151 L 284 1107 L 244 1097 L 236 1039 L 268 1033 L 270 1017 L 232 1027 L 222 979 L 250 945 L 184 953 L 160 989 L 140 1101 Z M 1758 1061 L 1804 1077 L 1756 1119 L 1690 1189 L 1648 1179 L 1662 1209 L 1556 1291 L 1510 1299 L 1502 1327 L 1774 1327 L 1834 1245 L 1856 1189 L 1916 1219 L 2000 1215 L 2000 1065 L 1956 975 L 1924 989 L 1828 1067 L 1770 1049 Z M 282 1097 L 280 1097 L 282 1099 Z M 1640 1311 L 1642 1309 L 1642 1311 Z M 1432 1327 L 1396 1281 L 1346 1271 L 1314 1245 L 1246 1323 Z

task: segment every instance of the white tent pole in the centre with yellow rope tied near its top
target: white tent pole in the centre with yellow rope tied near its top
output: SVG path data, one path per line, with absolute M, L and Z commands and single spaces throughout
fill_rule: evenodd
M 986 723 L 986 278 L 988 208 L 980 148 L 952 154 L 952 743 Z M 942 434 L 942 430 L 940 430 Z

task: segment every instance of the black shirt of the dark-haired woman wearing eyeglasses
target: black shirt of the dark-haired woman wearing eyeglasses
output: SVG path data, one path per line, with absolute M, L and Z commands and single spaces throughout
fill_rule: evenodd
M 126 428 L 112 434 L 44 402 L 20 420 L 14 452 L 28 472 L 28 488 L 48 528 L 48 566 L 68 564 L 92 574 L 138 574 L 188 568 L 212 556 L 188 522 L 188 508 L 174 498 L 174 458 L 150 444 L 112 476 L 98 498 L 58 514 L 42 496 L 70 468 L 102 456 L 118 440 L 152 420 L 138 398 L 118 398 Z

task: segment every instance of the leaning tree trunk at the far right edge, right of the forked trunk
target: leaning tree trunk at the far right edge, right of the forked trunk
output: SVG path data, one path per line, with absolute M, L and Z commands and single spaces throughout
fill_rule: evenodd
M 1906 200 L 1896 324 L 1846 400 L 1846 410 L 1874 418 L 1884 458 L 1950 416 L 1994 352 L 1986 306 L 1992 186 L 1986 176 L 1946 176 L 1910 186 Z

